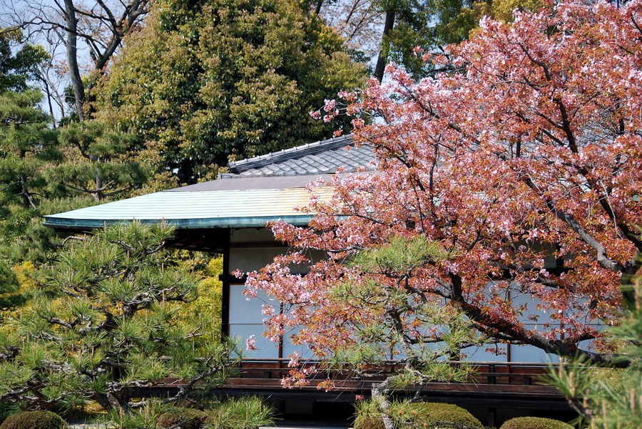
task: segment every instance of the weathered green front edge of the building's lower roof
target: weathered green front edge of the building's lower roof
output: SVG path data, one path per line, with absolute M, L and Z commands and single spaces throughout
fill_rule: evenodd
M 275 222 L 277 220 L 297 226 L 307 226 L 313 218 L 314 216 L 312 215 L 290 215 L 282 217 L 210 217 L 200 219 L 73 219 L 45 216 L 46 222 L 44 222 L 44 224 L 46 227 L 60 229 L 95 229 L 136 220 L 142 224 L 166 222 L 176 229 L 264 228 L 267 222 Z

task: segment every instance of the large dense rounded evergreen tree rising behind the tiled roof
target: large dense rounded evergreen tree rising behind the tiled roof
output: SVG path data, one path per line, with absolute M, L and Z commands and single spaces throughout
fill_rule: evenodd
M 96 116 L 195 182 L 228 156 L 327 138 L 311 106 L 364 81 L 342 40 L 296 2 L 159 1 L 96 86 Z

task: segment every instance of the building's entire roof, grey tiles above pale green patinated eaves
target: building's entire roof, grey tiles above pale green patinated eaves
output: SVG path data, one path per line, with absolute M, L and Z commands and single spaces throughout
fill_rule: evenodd
M 346 148 L 350 136 L 323 140 L 230 163 L 219 180 L 155 192 L 70 212 L 45 216 L 54 228 L 101 228 L 118 222 L 167 222 L 177 229 L 265 227 L 281 219 L 307 225 L 312 215 L 297 212 L 310 194 L 305 186 L 322 177 L 330 180 L 338 167 L 345 171 L 374 169 L 370 148 Z M 330 189 L 318 189 L 330 197 Z

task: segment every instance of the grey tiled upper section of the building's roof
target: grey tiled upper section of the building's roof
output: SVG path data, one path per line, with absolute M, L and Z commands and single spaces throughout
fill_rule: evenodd
M 372 148 L 352 145 L 350 135 L 308 143 L 258 157 L 230 162 L 221 179 L 274 177 L 334 173 L 337 168 L 352 172 L 361 167 L 374 170 Z

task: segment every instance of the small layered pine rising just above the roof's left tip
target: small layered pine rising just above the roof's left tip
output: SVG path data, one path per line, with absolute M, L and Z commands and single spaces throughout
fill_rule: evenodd
M 68 161 L 52 167 L 48 177 L 59 184 L 62 193 L 76 191 L 98 202 L 141 187 L 147 180 L 141 165 L 127 159 L 131 135 L 84 121 L 61 128 L 58 139 L 68 152 Z

